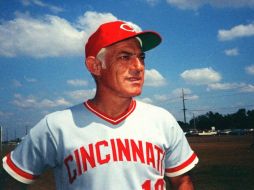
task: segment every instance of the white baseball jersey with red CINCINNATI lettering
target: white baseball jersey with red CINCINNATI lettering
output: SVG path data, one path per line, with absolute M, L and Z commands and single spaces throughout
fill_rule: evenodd
M 47 115 L 3 159 L 17 180 L 32 183 L 53 168 L 58 190 L 165 190 L 198 162 L 174 117 L 133 100 L 118 118 L 87 101 Z

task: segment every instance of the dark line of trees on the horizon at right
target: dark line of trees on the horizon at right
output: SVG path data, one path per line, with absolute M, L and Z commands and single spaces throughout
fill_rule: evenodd
M 192 118 L 189 123 L 181 121 L 178 123 L 185 131 L 188 129 L 209 130 L 211 127 L 215 127 L 216 130 L 251 129 L 254 128 L 254 110 L 239 109 L 235 113 L 226 115 L 209 111 Z

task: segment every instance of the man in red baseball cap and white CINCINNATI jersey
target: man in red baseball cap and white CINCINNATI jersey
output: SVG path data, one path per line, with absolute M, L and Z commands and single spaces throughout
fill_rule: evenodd
M 47 115 L 3 159 L 4 169 L 29 184 L 51 167 L 59 190 L 162 190 L 164 175 L 175 189 L 194 189 L 187 172 L 198 158 L 177 121 L 133 98 L 142 92 L 144 52 L 160 42 L 122 21 L 102 24 L 85 47 L 95 97 Z

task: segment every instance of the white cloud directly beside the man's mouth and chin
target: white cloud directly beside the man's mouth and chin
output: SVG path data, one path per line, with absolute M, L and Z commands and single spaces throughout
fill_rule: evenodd
M 145 86 L 160 87 L 166 85 L 166 79 L 155 69 L 145 71 Z

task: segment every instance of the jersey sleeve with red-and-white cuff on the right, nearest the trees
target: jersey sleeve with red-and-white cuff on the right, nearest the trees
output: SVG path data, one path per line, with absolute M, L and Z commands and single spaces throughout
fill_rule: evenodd
M 175 121 L 171 128 L 171 141 L 165 156 L 165 174 L 176 177 L 191 170 L 197 163 L 198 157 L 191 149 L 185 134 Z

